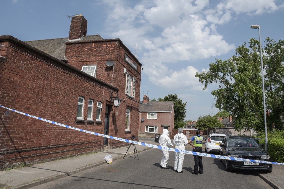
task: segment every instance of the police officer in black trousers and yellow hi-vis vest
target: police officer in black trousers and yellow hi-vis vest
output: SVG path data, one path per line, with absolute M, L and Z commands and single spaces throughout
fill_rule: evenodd
M 203 136 L 202 133 L 200 133 L 200 130 L 195 131 L 196 136 L 191 137 L 191 139 L 188 141 L 188 144 L 192 146 L 192 151 L 200 152 L 202 153 L 202 141 Z M 193 141 L 193 144 L 191 143 Z M 203 165 L 202 165 L 202 156 L 193 155 L 194 158 L 194 171 L 192 174 L 198 175 L 198 173 L 203 174 Z M 199 171 L 198 171 L 199 167 Z

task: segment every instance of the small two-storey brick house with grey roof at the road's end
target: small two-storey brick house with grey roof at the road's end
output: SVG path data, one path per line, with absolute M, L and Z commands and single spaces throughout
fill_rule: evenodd
M 162 134 L 164 128 L 170 132 L 174 129 L 174 102 L 149 102 L 149 97 L 144 95 L 139 111 L 139 136 L 154 137 L 154 134 Z

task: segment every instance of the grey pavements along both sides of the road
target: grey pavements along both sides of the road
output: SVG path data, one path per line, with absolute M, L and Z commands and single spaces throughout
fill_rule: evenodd
M 154 139 L 139 138 L 139 142 L 148 144 L 158 143 Z M 0 189 L 26 189 L 32 188 L 43 183 L 57 180 L 75 173 L 91 169 L 93 167 L 105 164 L 103 159 L 105 155 L 112 155 L 113 162 L 122 159 L 124 156 L 134 156 L 133 146 L 124 146 L 117 149 L 106 149 L 96 153 L 85 154 L 77 157 L 60 159 L 45 163 L 34 164 L 31 166 L 15 168 L 0 172 Z M 150 147 L 135 145 L 138 154 L 135 157 L 138 159 L 139 152 L 151 149 Z M 125 154 L 127 151 L 127 154 Z M 259 172 L 259 177 L 266 181 L 270 186 L 277 189 L 284 189 L 284 166 L 273 165 L 271 173 Z

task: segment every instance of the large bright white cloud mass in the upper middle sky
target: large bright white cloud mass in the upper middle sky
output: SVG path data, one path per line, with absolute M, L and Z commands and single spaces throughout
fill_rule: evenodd
M 143 74 L 165 88 L 203 86 L 197 69 L 171 70 L 167 64 L 220 56 L 235 48 L 218 33 L 217 25 L 238 14 L 261 14 L 277 9 L 274 0 L 224 0 L 209 9 L 206 0 L 143 0 L 131 7 L 124 1 L 104 0 L 110 6 L 106 24 L 113 38 L 135 49 L 143 63 Z M 180 82 L 183 81 L 183 82 Z

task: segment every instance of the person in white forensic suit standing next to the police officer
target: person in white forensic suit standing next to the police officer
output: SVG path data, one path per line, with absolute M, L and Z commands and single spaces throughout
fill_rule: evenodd
M 185 146 L 188 143 L 186 136 L 183 134 L 183 128 L 178 128 L 178 134 L 175 135 L 173 143 L 175 149 L 185 150 Z M 175 164 L 174 170 L 181 172 L 183 168 L 184 153 L 175 152 Z

